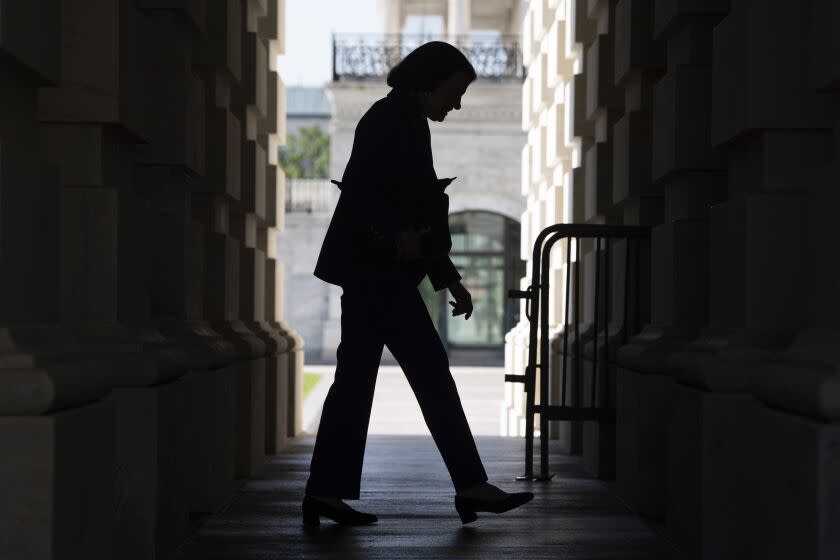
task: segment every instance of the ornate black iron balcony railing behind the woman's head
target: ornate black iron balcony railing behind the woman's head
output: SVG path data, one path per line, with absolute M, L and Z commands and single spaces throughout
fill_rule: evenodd
M 463 52 L 482 80 L 522 81 L 525 66 L 516 35 L 444 38 L 435 35 L 333 34 L 333 81 L 383 80 L 408 53 L 429 41 L 447 41 Z

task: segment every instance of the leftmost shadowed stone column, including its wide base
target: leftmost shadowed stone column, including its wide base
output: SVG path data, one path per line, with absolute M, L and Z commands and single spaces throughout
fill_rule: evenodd
M 62 182 L 40 145 L 38 91 L 62 80 L 61 2 L 0 10 L 0 556 L 105 559 L 114 496 L 98 480 L 114 477 L 114 410 L 100 398 L 111 372 L 50 348 L 63 342 Z

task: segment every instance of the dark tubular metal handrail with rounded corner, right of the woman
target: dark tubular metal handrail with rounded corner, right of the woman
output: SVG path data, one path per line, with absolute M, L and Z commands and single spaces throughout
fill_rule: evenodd
M 580 325 L 580 240 L 595 239 L 595 317 L 593 325 L 593 356 L 592 356 L 592 387 L 591 387 L 591 402 L 589 407 L 580 406 L 583 401 L 583 388 L 581 383 L 581 339 L 579 332 Z M 531 284 L 526 290 L 508 290 L 508 297 L 526 300 L 526 317 L 530 323 L 529 344 L 528 344 L 528 365 L 525 368 L 525 375 L 506 375 L 506 381 L 520 382 L 525 384 L 525 392 L 527 395 L 526 416 L 525 416 L 525 474 L 517 476 L 517 480 L 550 480 L 553 474 L 548 473 L 548 423 L 552 420 L 596 420 L 603 421 L 611 419 L 613 411 L 604 407 L 599 409 L 596 406 L 597 393 L 597 367 L 598 367 L 598 321 L 600 315 L 598 290 L 601 285 L 601 240 L 604 240 L 604 258 L 605 264 L 605 293 L 606 301 L 604 303 L 604 317 L 605 317 L 605 337 L 604 337 L 604 351 L 607 360 L 607 380 L 605 383 L 604 400 L 609 403 L 609 292 L 610 292 L 610 240 L 623 239 L 627 242 L 625 253 L 625 277 L 624 277 L 624 337 L 626 341 L 628 325 L 627 325 L 627 306 L 629 301 L 629 279 L 630 279 L 630 247 L 631 240 L 636 240 L 637 245 L 641 240 L 650 238 L 650 228 L 647 226 L 610 226 L 610 225 L 596 225 L 596 224 L 554 224 L 543 229 L 534 242 L 534 249 L 532 255 L 532 271 Z M 569 323 L 569 298 L 571 292 L 571 278 L 566 279 L 566 295 L 564 308 L 564 323 L 563 323 L 563 371 L 561 380 L 561 404 L 560 406 L 548 405 L 548 384 L 549 384 L 549 333 L 548 333 L 548 300 L 549 300 L 549 257 L 551 247 L 560 241 L 566 239 L 566 274 L 571 275 L 571 253 L 572 240 L 575 241 L 576 262 L 574 266 L 574 329 L 575 329 L 575 375 L 578 380 L 575 390 L 579 393 L 579 398 L 576 399 L 577 406 L 566 405 L 566 381 L 568 378 L 567 361 L 568 361 L 568 336 L 570 330 Z M 639 259 L 639 252 L 636 258 Z M 640 266 L 637 265 L 637 276 L 640 275 Z M 639 282 L 636 283 L 638 302 Z M 538 312 L 533 314 L 533 306 L 538 307 Z M 542 317 L 542 323 L 540 323 Z M 637 314 L 638 318 L 638 314 Z M 537 329 L 540 327 L 540 357 L 537 362 Z M 536 369 L 540 369 L 540 396 L 541 401 L 538 405 L 535 403 L 534 388 L 536 384 Z M 534 414 L 540 414 L 540 474 L 533 475 L 533 452 L 534 452 Z

